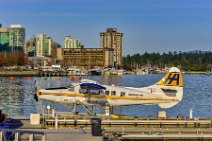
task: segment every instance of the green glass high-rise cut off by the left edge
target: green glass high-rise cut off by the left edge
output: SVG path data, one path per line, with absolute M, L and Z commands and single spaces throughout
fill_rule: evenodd
M 10 51 L 9 28 L 0 28 L 0 51 Z

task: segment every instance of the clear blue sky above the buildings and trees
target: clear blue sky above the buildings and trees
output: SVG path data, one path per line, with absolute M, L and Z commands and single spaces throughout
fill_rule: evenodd
M 0 0 L 3 27 L 22 24 L 26 39 L 45 33 L 100 47 L 100 32 L 124 33 L 123 55 L 212 51 L 212 0 Z

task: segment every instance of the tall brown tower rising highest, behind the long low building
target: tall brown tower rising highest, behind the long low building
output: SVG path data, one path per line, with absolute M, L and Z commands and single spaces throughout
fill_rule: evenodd
M 114 50 L 114 67 L 122 66 L 122 37 L 123 33 L 119 33 L 117 28 L 107 28 L 106 32 L 100 33 L 100 47 Z

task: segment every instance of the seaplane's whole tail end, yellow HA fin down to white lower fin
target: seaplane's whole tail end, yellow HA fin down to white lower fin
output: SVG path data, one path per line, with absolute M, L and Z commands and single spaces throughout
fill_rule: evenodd
M 179 103 L 183 98 L 183 77 L 180 70 L 176 67 L 170 68 L 166 75 L 156 83 L 161 87 L 163 94 L 174 98 L 176 101 L 160 103 L 161 108 L 170 108 Z

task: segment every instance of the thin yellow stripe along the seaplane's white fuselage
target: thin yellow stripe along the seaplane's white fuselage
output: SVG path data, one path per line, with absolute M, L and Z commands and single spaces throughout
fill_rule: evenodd
M 159 101 L 178 101 L 177 99 L 167 99 L 167 98 L 145 98 L 139 96 L 108 96 L 108 95 L 88 95 L 88 94 L 80 94 L 80 93 L 65 93 L 65 92 L 41 92 L 39 91 L 39 95 L 57 95 L 57 96 L 68 96 L 68 97 L 89 97 L 89 98 L 97 98 L 97 99 L 123 99 L 123 100 L 159 100 Z

